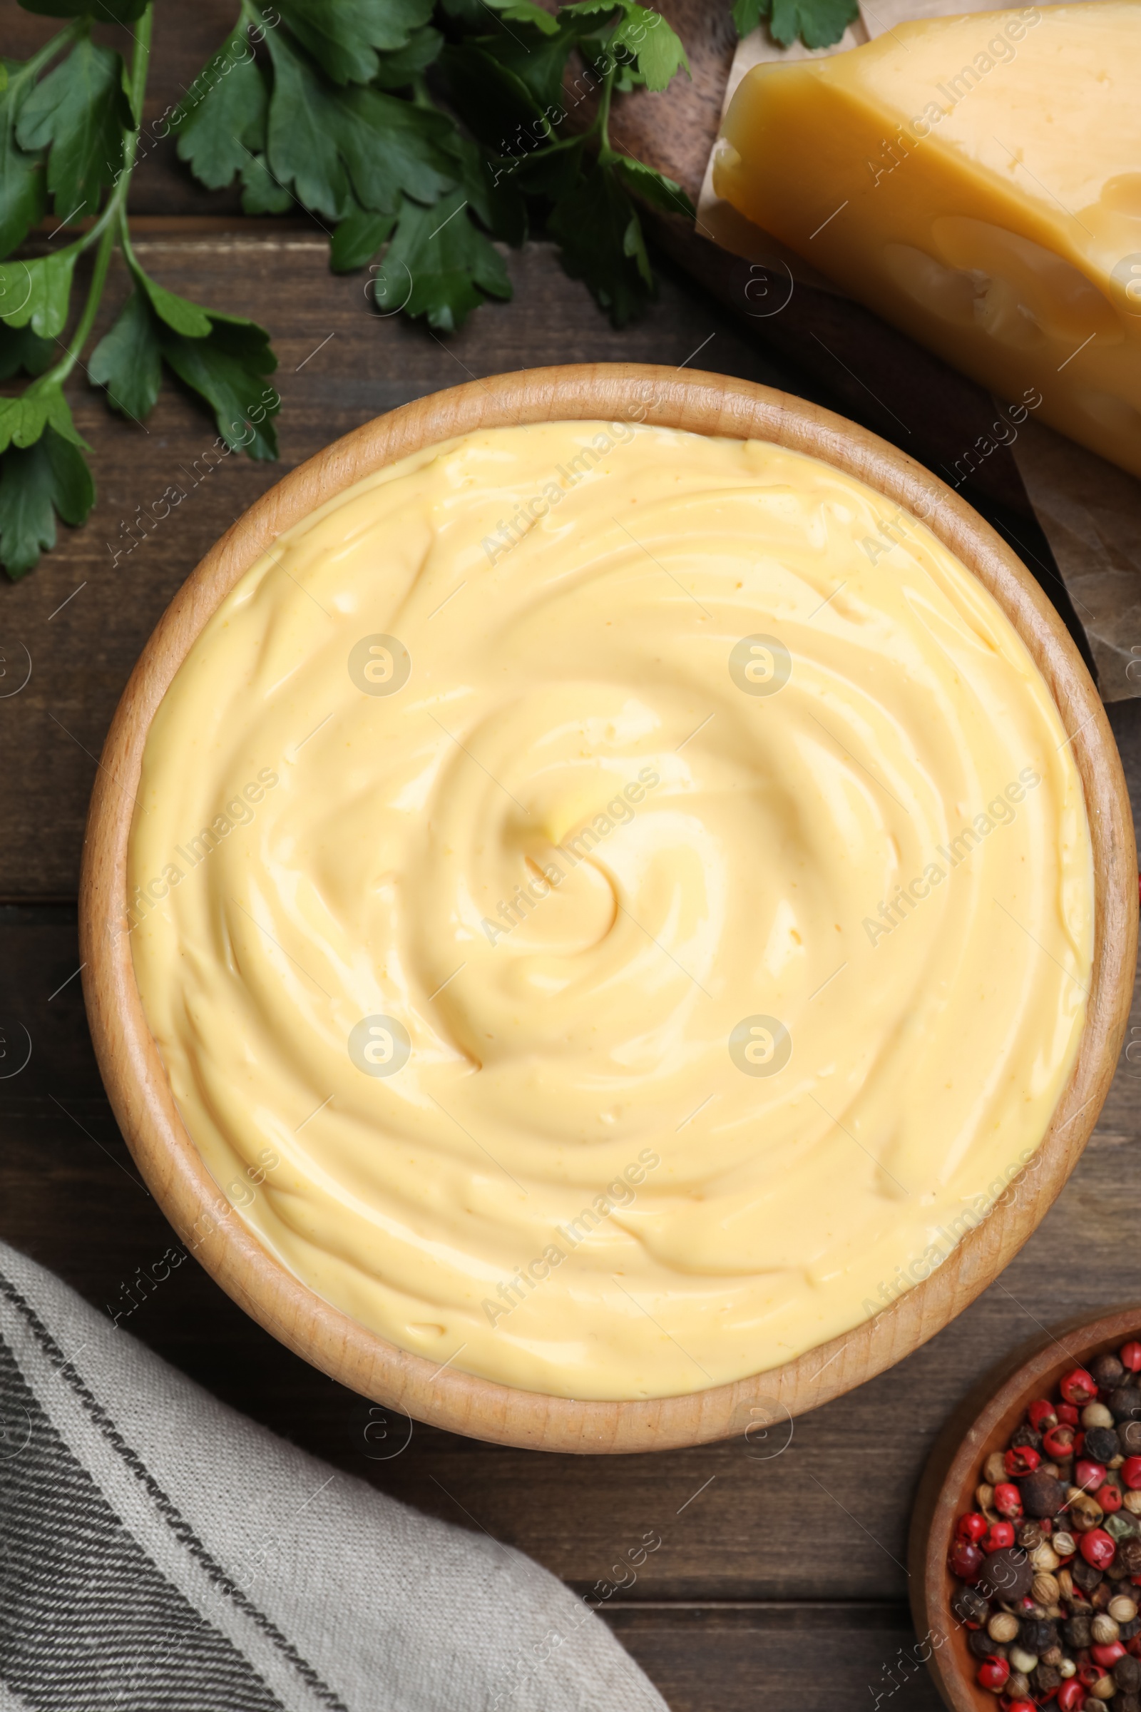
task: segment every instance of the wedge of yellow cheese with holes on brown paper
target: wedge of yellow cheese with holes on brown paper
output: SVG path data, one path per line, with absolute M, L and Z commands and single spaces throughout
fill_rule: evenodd
M 1141 0 L 919 19 L 756 65 L 713 183 L 1001 401 L 1141 476 Z

